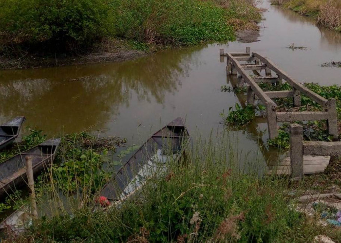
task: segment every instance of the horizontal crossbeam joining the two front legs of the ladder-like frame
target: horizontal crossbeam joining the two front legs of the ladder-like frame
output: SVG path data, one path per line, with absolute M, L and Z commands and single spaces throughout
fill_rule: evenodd
M 328 112 L 322 111 L 291 111 L 276 112 L 277 121 L 321 121 L 328 119 Z

